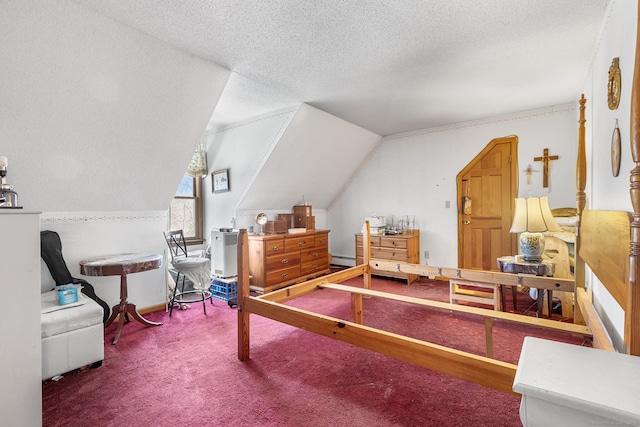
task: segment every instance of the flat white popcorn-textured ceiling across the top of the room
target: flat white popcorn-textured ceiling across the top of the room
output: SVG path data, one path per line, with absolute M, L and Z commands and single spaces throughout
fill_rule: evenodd
M 608 0 L 75 0 L 233 71 L 211 127 L 300 102 L 380 135 L 574 102 Z

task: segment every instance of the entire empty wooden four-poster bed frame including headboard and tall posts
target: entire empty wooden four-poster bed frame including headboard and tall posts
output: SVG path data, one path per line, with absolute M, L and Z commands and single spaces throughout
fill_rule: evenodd
M 640 26 L 639 26 L 640 27 Z M 639 28 L 640 34 L 640 28 Z M 640 45 L 640 44 L 639 44 Z M 246 230 L 240 230 L 238 241 L 238 358 L 248 360 L 250 314 L 256 314 L 294 327 L 344 341 L 415 365 L 461 378 L 505 393 L 513 392 L 517 365 L 492 359 L 493 319 L 552 328 L 591 337 L 596 348 L 615 351 L 596 310 L 591 294 L 585 289 L 588 266 L 625 311 L 624 343 L 626 352 L 640 355 L 640 51 L 636 54 L 631 102 L 631 152 L 635 168 L 631 171 L 633 221 L 627 212 L 585 210 L 586 149 L 584 96 L 580 103 L 578 158 L 576 163 L 576 204 L 578 211 L 576 236 L 575 281 L 528 275 L 515 275 L 458 268 L 441 268 L 394 261 L 372 260 L 369 229 L 364 237 L 365 262 L 362 265 L 309 280 L 261 296 L 249 294 L 249 251 Z M 600 230 L 607 230 L 600 233 Z M 613 232 L 611 232 L 613 230 Z M 625 260 L 620 268 L 620 260 Z M 371 269 L 444 277 L 476 282 L 527 286 L 575 292 L 574 324 L 532 318 L 494 310 L 427 301 L 379 292 L 371 289 Z M 363 287 L 340 283 L 363 277 Z M 337 319 L 291 307 L 284 302 L 319 289 L 334 289 L 351 294 L 352 319 Z M 386 298 L 426 307 L 440 308 L 482 316 L 485 321 L 486 356 L 479 356 L 426 341 L 421 341 L 363 325 L 363 297 Z

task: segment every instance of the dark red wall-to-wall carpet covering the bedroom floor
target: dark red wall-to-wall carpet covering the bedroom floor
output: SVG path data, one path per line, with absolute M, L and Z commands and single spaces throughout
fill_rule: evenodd
M 448 300 L 448 284 L 410 286 L 374 279 L 373 288 Z M 526 308 L 526 303 L 523 304 Z M 315 292 L 298 307 L 350 319 L 347 294 Z M 523 308 L 523 309 L 524 309 Z M 148 314 L 163 326 L 115 324 L 101 368 L 43 385 L 44 426 L 520 426 L 519 399 L 349 344 L 251 317 L 251 359 L 237 359 L 236 310 L 214 301 L 204 315 Z M 484 354 L 483 322 L 377 298 L 365 324 Z M 496 322 L 496 358 L 517 363 L 525 335 L 569 335 Z

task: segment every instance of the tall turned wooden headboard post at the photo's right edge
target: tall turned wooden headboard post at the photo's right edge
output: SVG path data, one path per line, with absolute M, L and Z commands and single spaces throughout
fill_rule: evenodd
M 640 8 L 636 28 L 636 60 L 631 87 L 631 170 L 630 196 L 633 206 L 629 252 L 629 287 L 625 310 L 624 338 L 627 353 L 640 356 Z

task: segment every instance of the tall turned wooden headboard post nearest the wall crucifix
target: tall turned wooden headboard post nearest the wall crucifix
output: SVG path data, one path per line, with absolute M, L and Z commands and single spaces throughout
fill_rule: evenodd
M 578 120 L 578 157 L 576 159 L 576 210 L 577 210 L 577 222 L 576 222 L 576 243 L 574 247 L 576 248 L 575 253 L 575 271 L 574 276 L 576 280 L 576 287 L 584 288 L 585 280 L 585 267 L 584 260 L 580 257 L 578 253 L 578 249 L 580 248 L 580 222 L 582 219 L 582 212 L 584 211 L 584 206 L 587 201 L 586 193 L 584 189 L 587 185 L 587 154 L 586 154 L 586 142 L 585 142 L 585 123 L 586 119 L 584 118 L 584 110 L 585 104 L 587 100 L 582 94 L 580 97 L 580 119 Z M 575 293 L 574 293 L 575 295 Z M 577 324 L 584 324 L 584 316 L 582 315 L 582 311 L 580 311 L 580 306 L 577 301 L 574 304 L 574 314 L 573 321 Z

